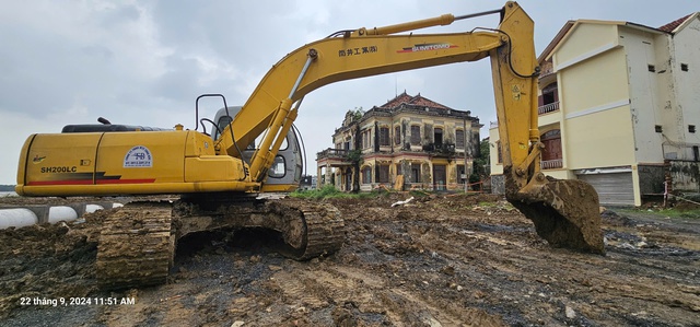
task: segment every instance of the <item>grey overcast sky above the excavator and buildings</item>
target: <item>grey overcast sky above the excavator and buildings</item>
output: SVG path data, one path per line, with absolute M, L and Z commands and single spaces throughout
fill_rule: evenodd
M 0 0 L 0 184 L 15 184 L 19 153 L 34 132 L 68 124 L 195 127 L 195 98 L 222 93 L 245 103 L 284 55 L 339 30 L 374 27 L 499 9 L 502 1 L 11 1 Z M 537 54 L 568 20 L 630 21 L 658 27 L 700 11 L 696 0 L 522 0 L 535 21 Z M 498 15 L 431 33 L 495 27 Z M 332 147 L 345 113 L 396 93 L 421 95 L 495 120 L 488 60 L 339 82 L 300 109 L 311 166 Z M 205 116 L 221 105 L 205 103 Z

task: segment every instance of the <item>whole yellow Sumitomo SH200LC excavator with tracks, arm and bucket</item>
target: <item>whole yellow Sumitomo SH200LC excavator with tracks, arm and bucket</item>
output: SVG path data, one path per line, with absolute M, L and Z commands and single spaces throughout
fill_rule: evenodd
M 494 13 L 501 15 L 498 28 L 412 32 Z M 490 57 L 506 199 L 552 246 L 603 254 L 593 187 L 581 180 L 555 180 L 540 172 L 533 36 L 534 23 L 516 2 L 470 15 L 340 31 L 282 58 L 242 107 L 229 107 L 224 98 L 215 120 L 199 120 L 197 108 L 195 130 L 180 125 L 159 130 L 100 119 L 102 125 L 71 125 L 61 133 L 32 135 L 22 149 L 16 192 L 31 197 L 182 195 L 174 203 L 132 202 L 105 219 L 96 267 L 106 288 L 165 282 L 176 241 L 199 231 L 270 229 L 280 233 L 287 255 L 293 258 L 330 254 L 345 237 L 337 209 L 255 197 L 299 186 L 299 151 L 288 150 L 299 147 L 292 122 L 303 97 L 336 81 Z M 211 124 L 211 135 L 205 122 Z M 203 131 L 198 131 L 200 124 Z

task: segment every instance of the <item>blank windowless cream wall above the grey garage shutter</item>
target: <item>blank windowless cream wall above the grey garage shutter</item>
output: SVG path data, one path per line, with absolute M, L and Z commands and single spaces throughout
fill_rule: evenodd
M 581 30 L 596 31 L 579 28 L 580 34 Z M 587 38 L 586 35 L 584 39 Z M 568 54 L 572 55 L 571 50 Z M 558 52 L 553 59 L 561 61 Z M 617 166 L 634 161 L 625 67 L 625 50 L 616 47 L 558 70 L 567 168 Z M 604 78 L 602 72 L 605 72 Z

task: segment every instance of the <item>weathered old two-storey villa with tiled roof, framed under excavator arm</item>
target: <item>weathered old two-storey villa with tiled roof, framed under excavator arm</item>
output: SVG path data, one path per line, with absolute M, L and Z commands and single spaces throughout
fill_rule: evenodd
M 470 112 L 404 92 L 346 114 L 335 149 L 317 154 L 317 183 L 341 190 L 464 189 L 481 126 Z

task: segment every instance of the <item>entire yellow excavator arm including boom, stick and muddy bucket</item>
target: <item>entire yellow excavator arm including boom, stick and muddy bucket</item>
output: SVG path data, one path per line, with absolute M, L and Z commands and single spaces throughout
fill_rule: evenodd
M 215 149 L 240 156 L 240 144 L 264 135 L 249 167 L 252 179 L 262 182 L 307 93 L 342 80 L 490 57 L 506 199 L 533 220 L 550 244 L 604 253 L 593 187 L 581 180 L 553 180 L 540 172 L 534 23 L 516 2 L 487 13 L 495 12 L 501 23 L 494 30 L 394 35 L 471 16 L 447 14 L 339 32 L 298 48 L 262 78 Z

